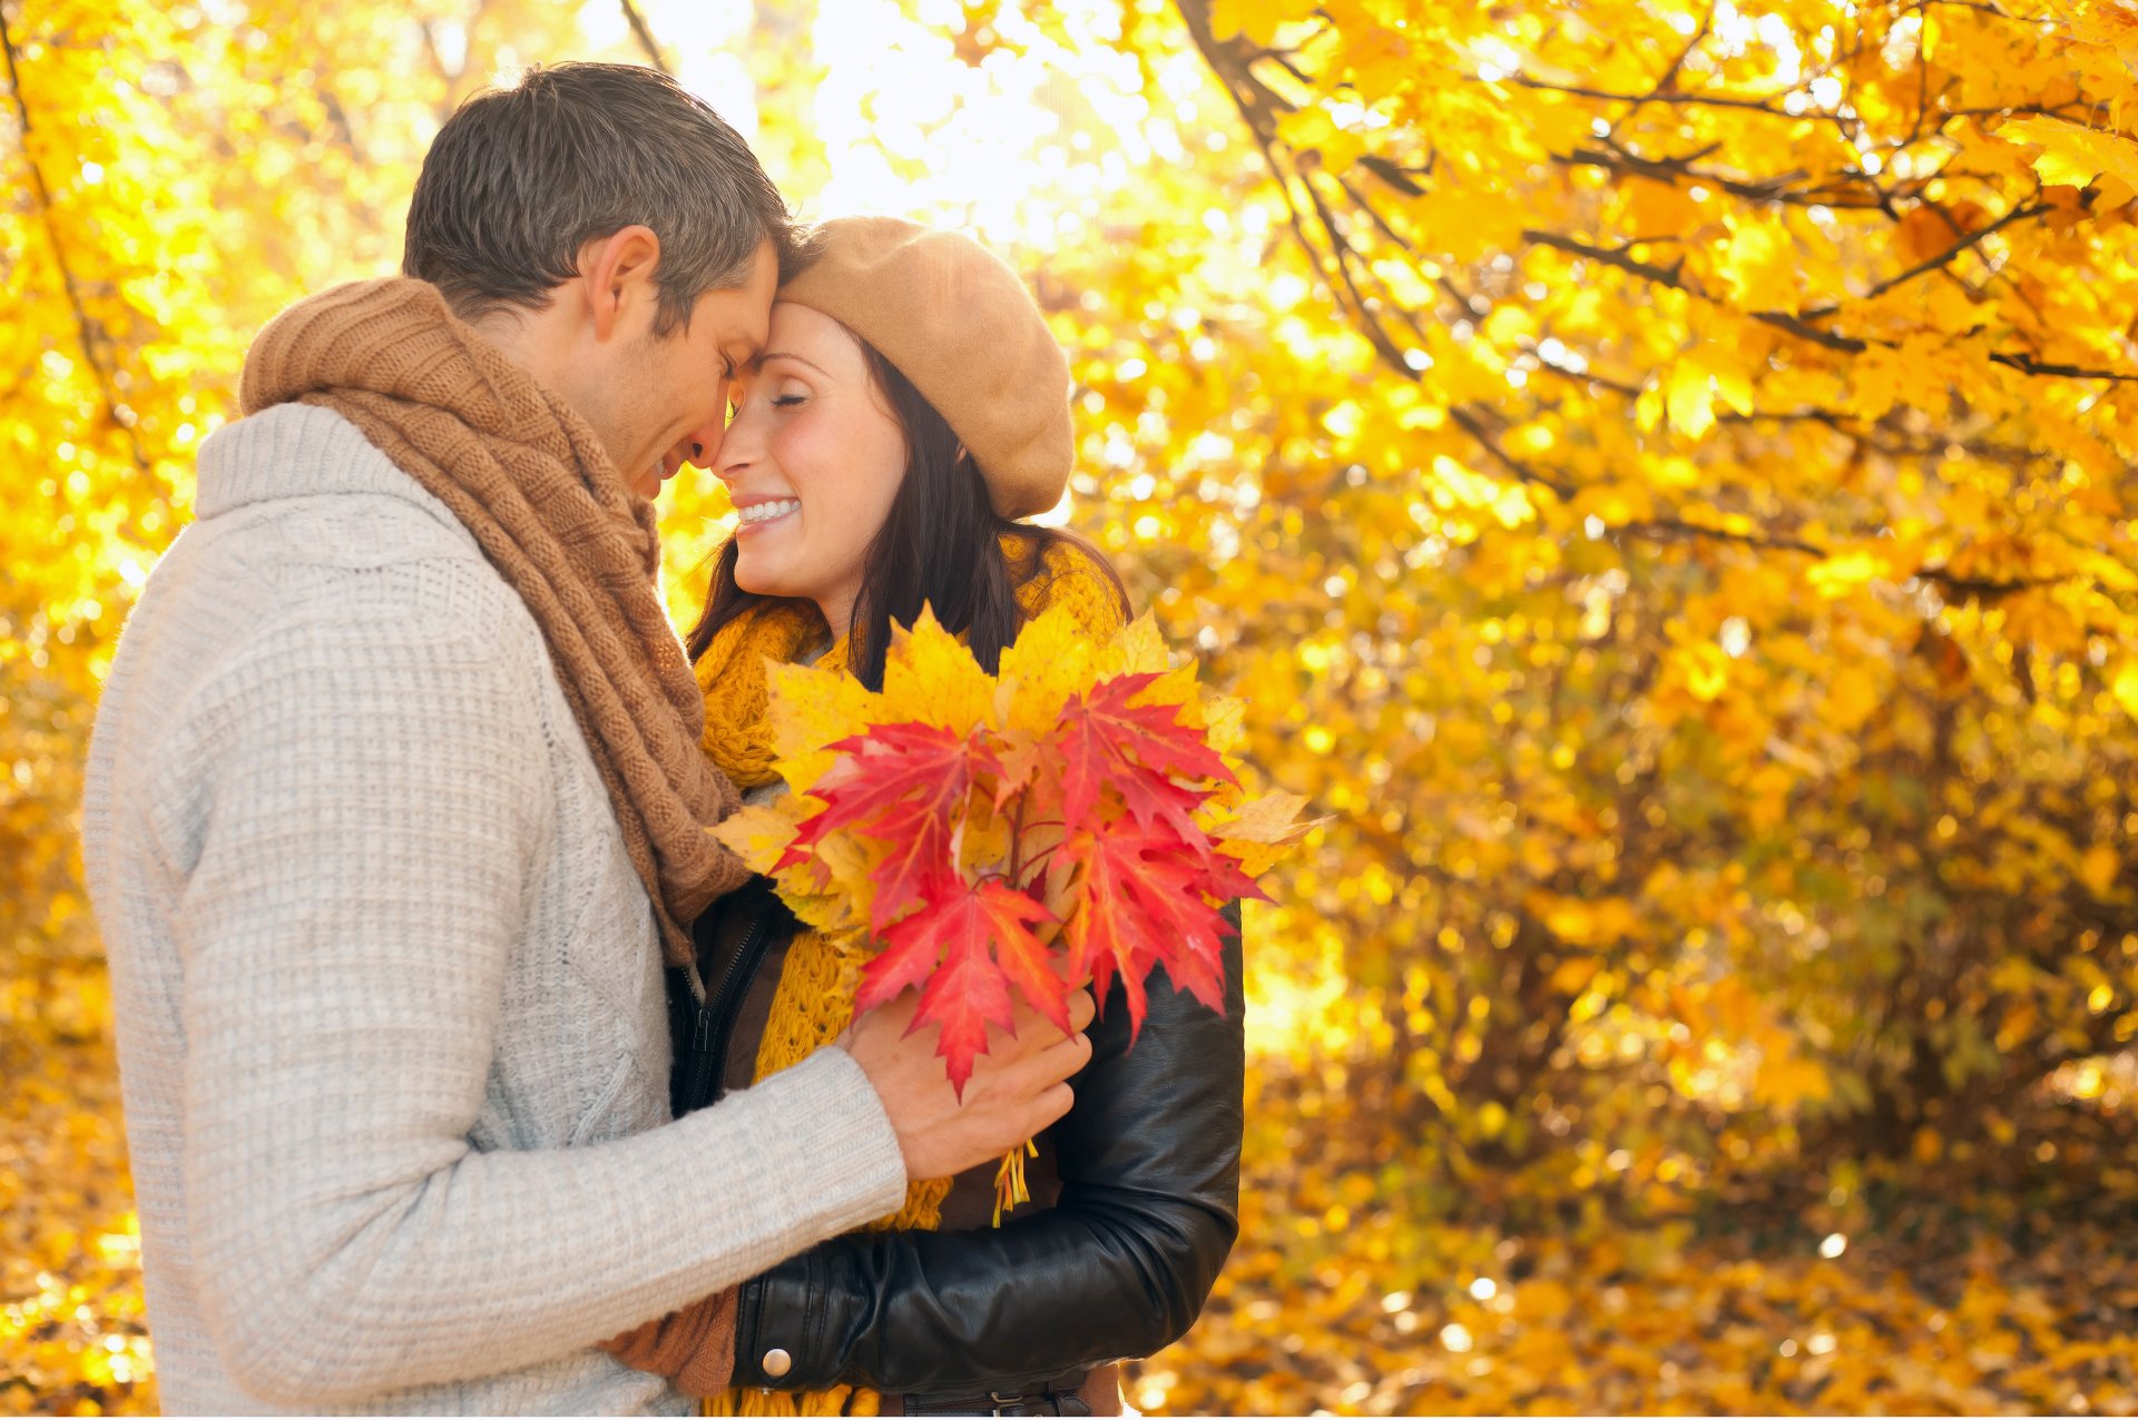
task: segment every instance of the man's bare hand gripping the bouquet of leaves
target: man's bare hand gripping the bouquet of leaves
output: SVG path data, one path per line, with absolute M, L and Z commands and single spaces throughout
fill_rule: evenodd
M 1069 1113 L 1069 1076 L 1090 1059 L 1084 1027 L 1090 991 L 1069 997 L 1073 1036 L 1063 1036 L 1024 1001 L 1016 1004 L 1016 1036 L 988 1031 L 988 1053 L 964 1083 L 964 1102 L 949 1087 L 934 1053 L 934 1031 L 915 1031 L 919 991 L 855 1019 L 840 1040 L 868 1074 L 898 1132 L 909 1179 L 949 1179 L 996 1159 Z

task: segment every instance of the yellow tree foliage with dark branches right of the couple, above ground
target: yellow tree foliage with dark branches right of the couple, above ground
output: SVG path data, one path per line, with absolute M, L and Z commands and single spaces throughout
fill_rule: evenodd
M 1086 382 L 1343 814 L 1272 954 L 1420 1159 L 1931 1162 L 2138 1034 L 2138 11 L 1180 15 L 1311 290 Z

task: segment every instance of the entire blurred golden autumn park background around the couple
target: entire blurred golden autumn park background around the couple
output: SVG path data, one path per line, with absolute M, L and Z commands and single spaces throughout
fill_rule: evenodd
M 154 1407 L 75 820 L 252 331 L 661 62 L 977 231 L 1328 822 L 1152 1411 L 2138 1411 L 2132 0 L 0 0 L 0 1414 Z M 729 510 L 667 508 L 684 615 Z

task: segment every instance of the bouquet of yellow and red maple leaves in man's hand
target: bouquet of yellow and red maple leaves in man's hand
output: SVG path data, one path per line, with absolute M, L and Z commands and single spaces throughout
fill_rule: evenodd
M 1131 1042 L 1146 980 L 1225 1008 L 1219 905 L 1296 841 L 1302 799 L 1249 801 L 1240 703 L 1169 668 L 1148 617 L 1093 641 L 1067 609 L 1028 621 L 998 675 L 924 609 L 894 634 L 883 690 L 770 668 L 778 771 L 793 790 L 714 833 L 795 916 L 859 963 L 855 1012 L 921 989 L 913 1027 L 958 1091 L 1009 1027 L 1011 991 L 1069 1031 L 1069 995 L 1118 978 Z M 1031 1149 L 1031 1145 L 1026 1145 Z M 1024 1151 L 996 1174 L 996 1217 L 1024 1202 Z

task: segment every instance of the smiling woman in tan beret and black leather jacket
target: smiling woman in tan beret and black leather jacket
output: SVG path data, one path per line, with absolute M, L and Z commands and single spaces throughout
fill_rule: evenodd
M 825 224 L 733 399 L 716 461 L 740 523 L 688 645 L 706 752 L 746 796 L 780 792 L 768 656 L 881 688 L 892 624 L 924 604 L 990 670 L 1048 606 L 1093 636 L 1122 624 L 1093 549 L 1011 521 L 1067 485 L 1069 369 L 1022 282 L 966 237 Z M 761 880 L 697 940 L 708 999 L 678 1023 L 678 1110 L 847 1027 L 853 972 Z M 1031 1162 L 1033 1202 L 1001 1228 L 992 1168 L 915 1183 L 874 1230 L 611 1350 L 699 1392 L 731 1362 L 714 1414 L 1116 1414 L 1110 1362 L 1189 1328 L 1238 1232 L 1238 942 L 1227 954 L 1229 1010 L 1155 980 L 1135 1051 L 1116 984 L 1075 1106 Z

